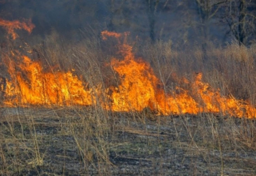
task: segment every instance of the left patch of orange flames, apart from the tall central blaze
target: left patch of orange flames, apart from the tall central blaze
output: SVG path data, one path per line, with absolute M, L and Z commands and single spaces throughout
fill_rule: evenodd
M 22 56 L 22 59 L 18 66 L 14 62 L 9 63 L 12 82 L 6 82 L 6 105 L 92 104 L 92 90 L 85 90 L 83 82 L 71 72 L 44 73 L 41 63 L 32 62 L 27 56 Z

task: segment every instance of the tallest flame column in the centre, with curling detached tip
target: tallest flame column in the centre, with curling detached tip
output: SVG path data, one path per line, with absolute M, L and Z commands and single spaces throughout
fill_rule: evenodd
M 120 33 L 103 31 L 102 37 L 106 36 L 120 38 Z M 124 37 L 127 33 L 124 33 Z M 119 43 L 120 39 L 119 39 Z M 110 65 L 120 77 L 122 77 L 119 87 L 113 89 L 111 95 L 112 110 L 114 111 L 142 111 L 145 107 L 154 109 L 156 101 L 156 90 L 159 80 L 154 75 L 150 65 L 142 59 L 135 60 L 132 46 L 124 44 L 119 46 L 123 60 L 113 58 Z

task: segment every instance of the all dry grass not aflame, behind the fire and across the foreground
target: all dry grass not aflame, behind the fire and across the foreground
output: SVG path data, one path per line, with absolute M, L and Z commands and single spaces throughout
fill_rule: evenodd
M 66 44 L 53 32 L 30 48 L 31 57 L 53 72 L 75 69 L 90 87 L 117 85 L 116 73 L 105 67 L 109 48 L 90 38 Z M 166 91 L 181 77 L 192 80 L 203 72 L 222 94 L 256 103 L 256 46 L 231 43 L 203 53 L 175 49 L 171 42 L 136 44 Z M 255 134 L 255 120 L 221 114 L 160 117 L 148 110 L 114 113 L 100 104 L 1 108 L 0 175 L 255 175 Z

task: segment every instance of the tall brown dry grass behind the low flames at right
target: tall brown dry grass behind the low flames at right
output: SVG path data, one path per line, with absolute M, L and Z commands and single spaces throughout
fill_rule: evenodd
M 256 46 L 230 43 L 223 47 L 208 46 L 206 53 L 200 47 L 173 48 L 171 42 L 139 46 L 137 52 L 151 63 L 162 83 L 169 85 L 175 76 L 193 79 L 202 72 L 205 82 L 223 95 L 248 100 L 255 104 Z M 173 75 L 173 77 L 172 77 Z

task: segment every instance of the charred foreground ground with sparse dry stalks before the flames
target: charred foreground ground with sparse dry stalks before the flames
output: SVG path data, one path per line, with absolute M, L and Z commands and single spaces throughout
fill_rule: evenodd
M 0 175 L 256 175 L 254 120 L 101 117 L 60 108 L 0 112 Z

